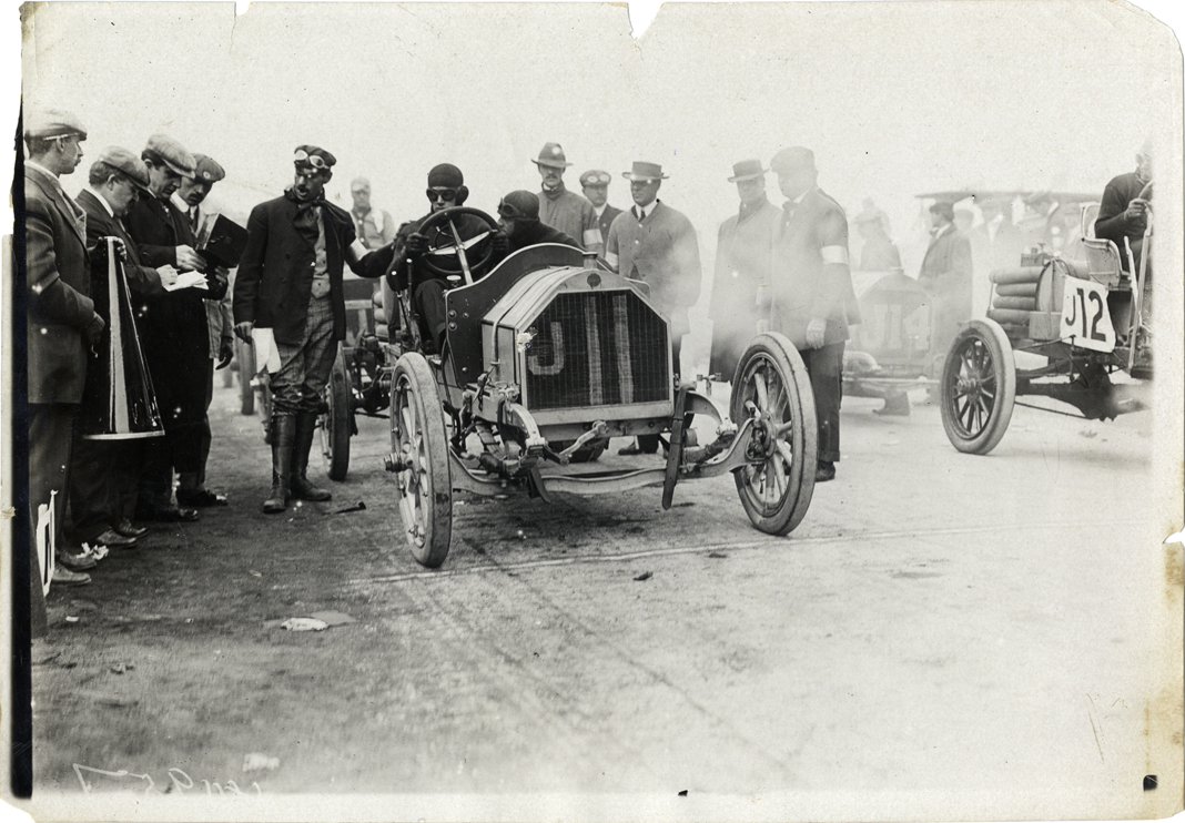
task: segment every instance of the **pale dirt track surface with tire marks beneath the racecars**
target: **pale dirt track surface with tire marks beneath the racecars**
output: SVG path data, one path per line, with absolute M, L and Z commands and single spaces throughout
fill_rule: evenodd
M 460 494 L 427 571 L 385 419 L 359 418 L 331 503 L 264 516 L 269 452 L 219 387 L 210 484 L 231 506 L 50 594 L 36 792 L 899 790 L 982 793 L 1003 819 L 1042 810 L 1001 792 L 1053 791 L 1069 817 L 1117 814 L 1158 767 L 1151 416 L 1018 409 L 972 457 L 936 407 L 878 405 L 845 399 L 838 480 L 787 539 L 749 527 L 730 477 L 670 512 L 656 488 Z M 357 623 L 278 626 L 322 610 Z

